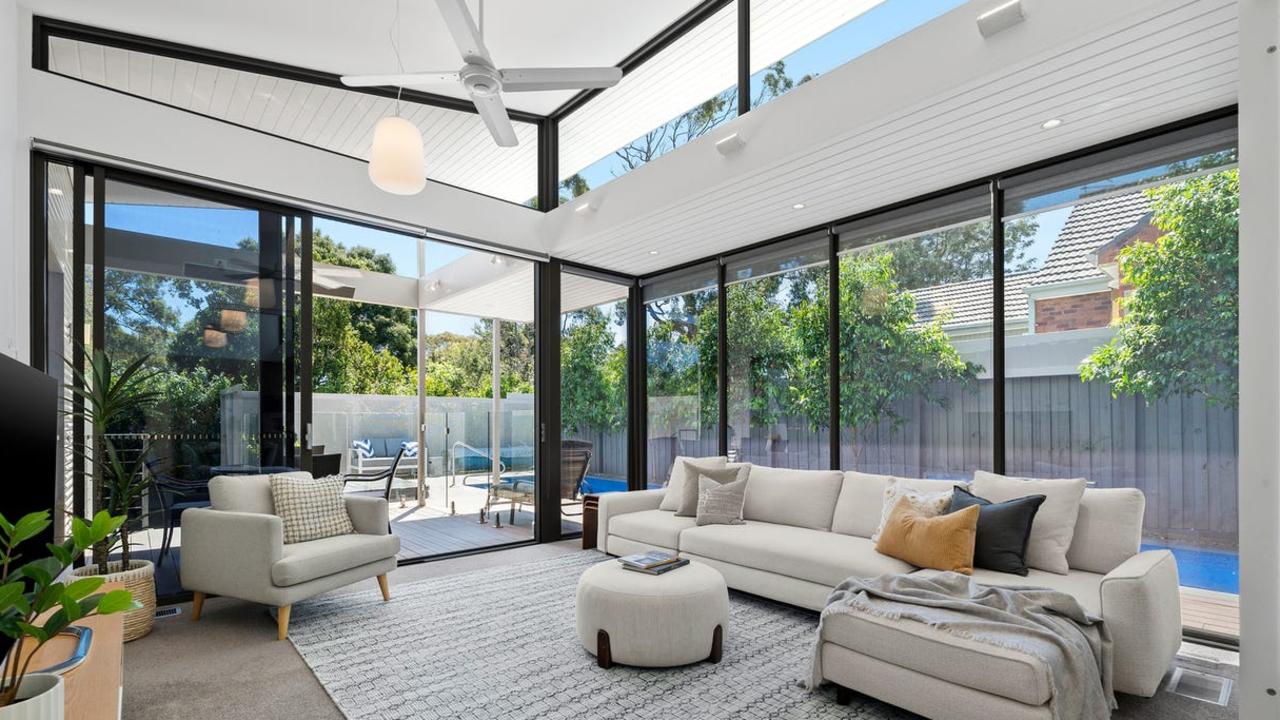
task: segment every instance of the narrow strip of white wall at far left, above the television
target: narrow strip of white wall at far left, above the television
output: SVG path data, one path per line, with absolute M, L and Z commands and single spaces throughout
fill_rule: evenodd
M 24 184 L 18 163 L 18 6 L 14 0 L 0 0 L 0 352 L 26 359 L 19 350 L 29 342 L 27 304 L 19 302 L 27 287 L 27 234 L 18 231 L 15 188 Z M 24 196 L 24 195 L 23 195 Z M 10 281 L 10 277 L 13 278 Z

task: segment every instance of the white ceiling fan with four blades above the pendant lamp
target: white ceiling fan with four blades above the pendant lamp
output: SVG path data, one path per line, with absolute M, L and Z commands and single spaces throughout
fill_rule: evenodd
M 506 68 L 498 69 L 489 56 L 480 29 L 466 0 L 436 0 L 444 24 L 453 36 L 465 63 L 458 70 L 420 73 L 388 73 L 378 76 L 343 76 L 347 87 L 421 86 L 461 82 L 475 102 L 480 118 L 494 141 L 502 147 L 518 145 L 516 128 L 507 117 L 502 92 L 535 92 L 540 90 L 589 90 L 612 87 L 622 79 L 618 68 Z M 480 5 L 481 22 L 484 3 Z

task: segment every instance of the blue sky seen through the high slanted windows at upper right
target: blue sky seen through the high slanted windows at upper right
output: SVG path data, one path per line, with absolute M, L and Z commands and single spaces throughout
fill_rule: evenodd
M 964 5 L 964 3 L 965 0 L 884 0 L 867 13 L 781 59 L 786 61 L 787 76 L 792 79 L 806 74 L 822 74 Z M 759 97 L 763 77 L 764 70 L 751 77 L 751 97 Z M 686 110 L 689 108 L 672 108 L 671 117 L 676 118 Z M 634 140 L 636 138 L 627 142 Z M 626 165 L 612 154 L 579 170 L 591 188 L 596 188 L 625 172 Z

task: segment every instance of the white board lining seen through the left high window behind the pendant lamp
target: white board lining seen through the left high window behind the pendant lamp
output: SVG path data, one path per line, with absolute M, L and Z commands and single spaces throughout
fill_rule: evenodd
M 50 69 L 256 131 L 369 159 L 374 124 L 396 101 L 205 63 L 52 37 Z M 498 147 L 479 115 L 415 102 L 401 113 L 422 129 L 428 174 L 513 202 L 538 192 L 538 128 L 513 123 L 520 145 Z

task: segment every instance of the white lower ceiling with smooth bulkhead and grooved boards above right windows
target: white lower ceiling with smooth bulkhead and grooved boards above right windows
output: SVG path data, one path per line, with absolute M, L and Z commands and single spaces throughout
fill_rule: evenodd
M 659 272 L 1236 100 L 1234 0 L 1116 4 L 1106 19 L 1076 13 L 1085 32 L 1037 27 L 1050 10 L 1071 9 L 1024 3 L 1028 20 L 1007 35 L 978 45 L 973 17 L 986 5 L 961 6 L 553 211 L 550 252 Z M 1001 56 L 1018 33 L 1043 40 L 1016 61 L 961 74 Z M 932 74 L 895 74 L 906 65 Z M 948 77 L 957 79 L 938 79 Z M 904 102 L 913 85 L 936 87 Z M 1065 122 L 1042 129 L 1048 118 Z M 741 158 L 713 149 L 731 132 L 746 137 Z M 773 155 L 750 160 L 760 149 Z M 598 211 L 575 213 L 585 201 Z

